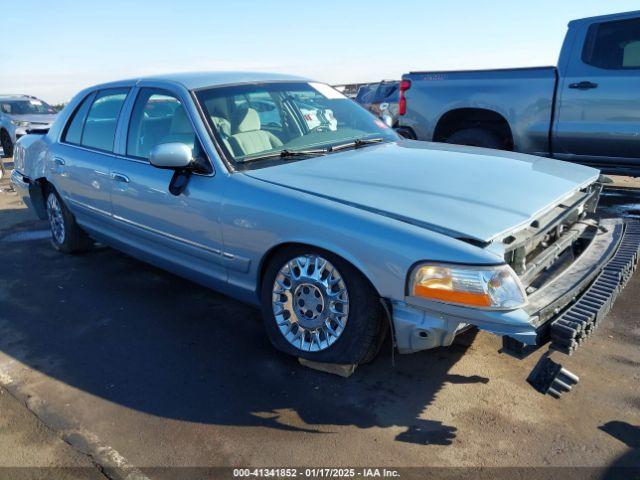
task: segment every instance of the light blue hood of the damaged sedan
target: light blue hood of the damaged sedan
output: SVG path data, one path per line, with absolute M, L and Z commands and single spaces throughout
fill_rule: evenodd
M 456 238 L 490 242 L 593 183 L 600 172 L 531 155 L 407 140 L 246 174 Z

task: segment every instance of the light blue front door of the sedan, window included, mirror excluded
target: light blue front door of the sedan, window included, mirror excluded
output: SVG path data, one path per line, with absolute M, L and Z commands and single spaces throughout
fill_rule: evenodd
M 226 282 L 219 224 L 221 188 L 211 174 L 192 175 L 178 196 L 173 170 L 149 163 L 159 143 L 181 142 L 203 155 L 184 101 L 177 93 L 139 88 L 125 109 L 119 154 L 111 169 L 114 241 L 160 267 L 213 288 Z

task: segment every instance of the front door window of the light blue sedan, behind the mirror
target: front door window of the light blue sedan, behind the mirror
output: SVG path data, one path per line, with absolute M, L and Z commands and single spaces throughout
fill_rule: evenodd
M 151 150 L 161 143 L 184 143 L 194 150 L 196 132 L 182 103 L 171 93 L 143 88 L 129 122 L 127 155 L 148 160 Z

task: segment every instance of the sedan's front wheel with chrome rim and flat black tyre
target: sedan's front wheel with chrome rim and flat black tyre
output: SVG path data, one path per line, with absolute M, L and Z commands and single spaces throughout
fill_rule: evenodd
M 262 283 L 269 340 L 289 355 L 326 363 L 372 360 L 386 330 L 377 292 L 352 265 L 292 247 L 277 253 Z

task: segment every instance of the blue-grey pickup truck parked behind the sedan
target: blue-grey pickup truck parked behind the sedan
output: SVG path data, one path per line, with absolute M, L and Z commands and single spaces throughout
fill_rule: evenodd
M 411 72 L 399 132 L 640 176 L 640 11 L 574 20 L 558 67 Z

